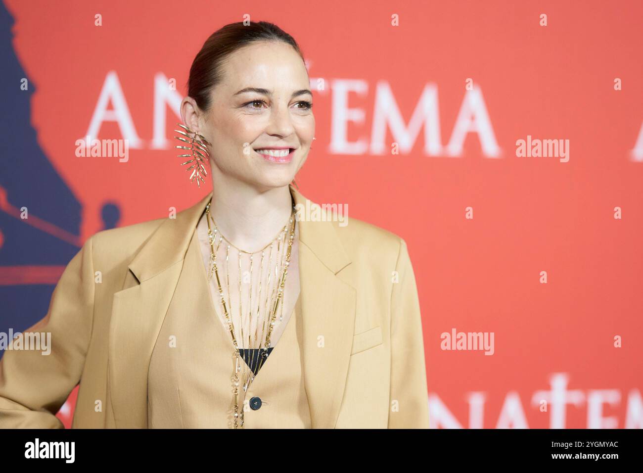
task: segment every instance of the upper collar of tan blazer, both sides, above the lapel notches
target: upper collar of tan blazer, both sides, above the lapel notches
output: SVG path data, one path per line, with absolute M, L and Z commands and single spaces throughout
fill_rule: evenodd
M 331 215 L 320 205 L 305 198 L 292 184 L 289 185 L 289 189 L 298 211 L 300 242 L 310 248 L 333 274 L 337 274 L 350 264 L 350 258 L 341 245 L 336 228 L 328 223 L 332 221 Z M 176 218 L 167 218 L 161 223 L 128 266 L 139 283 L 183 260 L 194 228 L 210 199 L 212 191 L 192 207 L 178 212 Z M 303 218 L 305 214 L 301 212 L 312 212 L 316 207 L 321 217 L 319 220 L 310 221 Z

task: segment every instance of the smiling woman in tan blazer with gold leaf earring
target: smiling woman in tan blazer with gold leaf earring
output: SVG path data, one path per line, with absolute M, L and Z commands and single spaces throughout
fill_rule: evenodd
M 78 382 L 73 427 L 428 427 L 406 244 L 290 184 L 314 140 L 294 39 L 228 24 L 188 84 L 179 156 L 213 191 L 87 240 L 27 330 L 51 355 L 0 362 L 0 427 L 62 427 Z

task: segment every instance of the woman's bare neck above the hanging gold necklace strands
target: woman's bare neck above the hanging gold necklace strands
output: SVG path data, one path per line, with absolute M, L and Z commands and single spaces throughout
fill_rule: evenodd
M 289 222 L 293 203 L 287 185 L 260 191 L 214 172 L 212 181 L 210 214 L 221 234 L 237 248 L 258 251 Z

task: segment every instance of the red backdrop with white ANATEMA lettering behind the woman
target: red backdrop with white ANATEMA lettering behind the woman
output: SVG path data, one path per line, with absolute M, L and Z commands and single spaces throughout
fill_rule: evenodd
M 107 199 L 123 226 L 209 192 L 173 148 L 190 64 L 224 24 L 271 21 L 315 94 L 303 194 L 408 243 L 431 427 L 643 427 L 640 1 L 5 5 L 82 241 Z M 129 138 L 129 160 L 75 156 L 92 129 Z M 568 161 L 517 156 L 527 136 L 568 143 Z M 493 332 L 493 356 L 442 349 L 452 329 Z

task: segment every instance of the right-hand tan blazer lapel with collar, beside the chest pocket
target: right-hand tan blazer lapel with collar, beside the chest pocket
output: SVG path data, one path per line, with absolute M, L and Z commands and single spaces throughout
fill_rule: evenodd
M 332 215 L 293 187 L 291 192 L 300 232 L 303 382 L 312 428 L 333 429 L 340 414 L 355 325 L 355 288 L 340 274 L 350 258 Z M 316 218 L 306 219 L 309 214 Z

